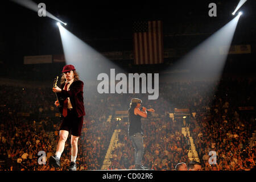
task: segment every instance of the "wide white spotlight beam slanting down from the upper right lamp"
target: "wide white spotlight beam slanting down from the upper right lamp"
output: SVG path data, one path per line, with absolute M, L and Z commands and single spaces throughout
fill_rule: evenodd
M 189 70 L 189 72 L 177 73 L 175 78 L 170 77 L 169 80 L 211 80 L 212 84 L 200 90 L 198 94 L 202 97 L 212 97 L 214 94 L 212 85 L 221 78 L 239 18 L 240 15 L 234 17 L 199 46 L 181 57 L 168 71 Z

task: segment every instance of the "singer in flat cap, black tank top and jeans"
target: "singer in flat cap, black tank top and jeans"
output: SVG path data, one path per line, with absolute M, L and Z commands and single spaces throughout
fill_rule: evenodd
M 141 163 L 144 151 L 141 117 L 147 118 L 147 111 L 155 112 L 154 109 L 146 109 L 146 107 L 142 107 L 141 110 L 141 106 L 142 100 L 132 98 L 128 110 L 128 134 L 135 151 L 135 169 L 147 169 L 147 167 L 142 166 Z

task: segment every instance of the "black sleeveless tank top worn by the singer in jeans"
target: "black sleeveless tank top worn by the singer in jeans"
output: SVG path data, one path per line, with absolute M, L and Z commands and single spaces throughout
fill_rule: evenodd
M 142 125 L 141 125 L 141 116 L 134 114 L 135 108 L 130 108 L 128 110 L 128 134 L 129 136 L 134 135 L 135 133 L 142 133 Z

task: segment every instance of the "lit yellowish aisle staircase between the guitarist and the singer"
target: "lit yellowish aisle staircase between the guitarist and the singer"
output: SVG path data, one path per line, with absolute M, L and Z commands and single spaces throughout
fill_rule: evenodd
M 111 159 L 112 159 L 112 153 L 113 153 L 113 150 L 114 148 L 117 146 L 117 142 L 118 142 L 118 133 L 120 132 L 121 130 L 114 130 L 114 133 L 112 135 L 112 138 L 110 140 L 110 143 L 109 143 L 109 148 L 108 150 L 106 151 L 106 155 L 105 155 L 105 159 L 103 161 L 103 164 L 101 166 L 101 169 L 104 170 L 104 169 L 108 169 L 108 167 L 110 166 L 111 164 Z

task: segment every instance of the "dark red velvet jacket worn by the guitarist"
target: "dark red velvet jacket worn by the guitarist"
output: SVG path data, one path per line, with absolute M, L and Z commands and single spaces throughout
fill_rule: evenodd
M 69 97 L 73 109 L 75 109 L 77 117 L 82 117 L 85 115 L 84 110 L 84 82 L 81 80 L 73 81 L 73 83 L 69 86 L 69 90 L 63 90 L 65 86 L 64 84 L 61 84 L 61 92 L 58 93 L 58 97 L 61 98 L 61 100 L 65 100 L 65 98 Z M 61 104 L 61 103 L 60 103 Z M 61 104 L 62 105 L 62 104 Z

